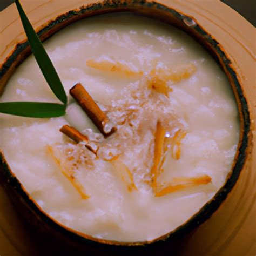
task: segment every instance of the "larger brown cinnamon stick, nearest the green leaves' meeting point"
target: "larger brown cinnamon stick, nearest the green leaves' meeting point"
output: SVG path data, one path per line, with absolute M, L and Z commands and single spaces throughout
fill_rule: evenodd
M 117 129 L 116 127 L 110 127 L 109 119 L 99 108 L 97 103 L 92 99 L 82 84 L 78 83 L 70 89 L 70 95 L 77 101 L 82 107 L 87 116 L 97 126 L 99 131 L 104 137 L 109 137 Z

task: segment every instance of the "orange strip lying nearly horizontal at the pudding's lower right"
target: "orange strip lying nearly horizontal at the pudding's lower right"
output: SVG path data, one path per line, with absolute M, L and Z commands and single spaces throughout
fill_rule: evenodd
M 170 194 L 172 192 L 183 190 L 188 187 L 193 187 L 193 186 L 198 186 L 198 185 L 206 185 L 206 184 L 210 183 L 211 180 L 212 180 L 212 178 L 209 177 L 208 175 L 204 175 L 201 177 L 192 177 L 192 178 L 173 178 L 173 181 L 175 183 L 180 182 L 180 184 L 167 186 L 163 190 L 156 192 L 155 196 L 161 197 L 161 196 L 165 196 L 166 194 Z

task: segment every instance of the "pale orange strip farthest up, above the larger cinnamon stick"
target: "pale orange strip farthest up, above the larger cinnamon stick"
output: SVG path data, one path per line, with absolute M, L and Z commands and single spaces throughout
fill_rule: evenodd
M 125 62 L 124 60 L 116 61 L 110 57 L 103 56 L 98 59 L 89 59 L 86 62 L 90 68 L 119 73 L 126 76 L 143 75 L 132 63 Z

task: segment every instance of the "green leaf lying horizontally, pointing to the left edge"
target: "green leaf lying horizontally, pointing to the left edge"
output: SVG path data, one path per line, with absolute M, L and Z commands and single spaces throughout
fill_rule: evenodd
M 66 105 L 43 102 L 3 102 L 0 113 L 13 114 L 21 117 L 50 118 L 65 114 Z

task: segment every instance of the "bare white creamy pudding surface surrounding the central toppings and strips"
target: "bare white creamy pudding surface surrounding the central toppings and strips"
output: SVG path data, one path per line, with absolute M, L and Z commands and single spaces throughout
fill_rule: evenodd
M 45 148 L 63 141 L 59 128 L 64 124 L 79 130 L 93 127 L 83 111 L 69 98 L 71 106 L 65 117 L 31 119 L 1 114 L 0 146 L 11 169 L 44 211 L 95 237 L 144 241 L 184 223 L 213 197 L 231 168 L 239 123 L 228 80 L 200 45 L 169 25 L 123 14 L 70 25 L 44 46 L 67 95 L 80 82 L 100 104 L 124 97 L 121 90 L 138 78 L 113 78 L 112 74 L 88 68 L 89 58 L 107 55 L 132 62 L 141 70 L 159 62 L 193 62 L 196 73 L 171 85 L 170 101 L 188 132 L 180 159 L 168 158 L 166 164 L 173 177 L 207 174 L 212 178 L 208 185 L 154 197 L 150 189 L 127 191 L 113 168 L 105 165 L 100 171 L 80 174 L 91 196 L 82 200 Z M 22 100 L 57 102 L 32 56 L 18 67 L 1 97 L 1 102 Z

